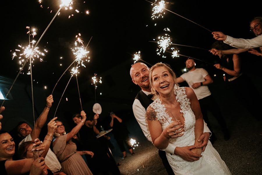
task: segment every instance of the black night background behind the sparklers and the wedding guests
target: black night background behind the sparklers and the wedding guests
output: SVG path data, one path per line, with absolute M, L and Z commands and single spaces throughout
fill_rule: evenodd
M 36 27 L 37 35 L 41 36 L 49 22 L 59 8 L 60 1 L 8 1 L 2 5 L 2 59 L 0 85 L 9 89 L 19 71 L 18 58 L 12 60 L 12 54 L 18 44 L 27 45 L 28 35 L 26 26 Z M 186 17 L 197 24 L 211 30 L 222 31 L 224 34 L 236 38 L 253 38 L 249 31 L 249 22 L 253 17 L 261 15 L 261 2 L 251 3 L 245 1 L 168 1 L 165 8 Z M 49 7 L 49 8 L 47 8 Z M 79 13 L 74 10 L 78 9 Z M 52 10 L 52 13 L 50 11 Z M 85 11 L 90 14 L 86 15 Z M 81 33 L 81 39 L 88 50 L 90 62 L 85 62 L 86 68 L 81 67 L 78 76 L 83 109 L 88 116 L 93 116 L 92 106 L 95 103 L 95 90 L 91 85 L 94 73 L 102 77 L 102 84 L 96 90 L 97 102 L 102 106 L 101 120 L 108 117 L 110 111 L 117 111 L 123 117 L 133 117 L 132 103 L 139 91 L 139 87 L 132 83 L 129 70 L 133 64 L 133 54 L 141 51 L 141 59 L 149 64 L 164 62 L 171 65 L 175 73 L 180 76 L 185 67 L 187 57 L 171 57 L 165 53 L 166 58 L 156 54 L 157 43 L 153 39 L 163 36 L 163 29 L 168 27 L 172 42 L 181 45 L 195 46 L 210 49 L 215 39 L 210 31 L 188 21 L 178 15 L 165 11 L 164 17 L 151 19 L 152 6 L 143 0 L 134 1 L 74 1 L 73 10 L 62 9 L 61 14 L 55 18 L 42 40 L 39 43 L 41 50 L 46 48 L 48 53 L 44 61 L 34 62 L 33 86 L 36 116 L 40 115 L 45 105 L 45 98 L 51 94 L 54 85 L 74 60 L 71 46 L 75 35 Z M 68 19 L 68 15 L 74 14 Z M 156 24 L 156 26 L 155 26 Z M 174 46 L 172 46 L 174 47 Z M 219 58 L 207 50 L 175 47 L 180 54 L 194 57 L 203 61 L 196 61 L 197 67 L 203 67 L 214 78 L 210 85 L 212 92 L 223 90 L 222 72 L 213 67 Z M 12 51 L 10 51 L 12 50 Z M 60 59 L 63 57 L 63 59 Z M 249 53 L 241 54 L 243 71 L 261 88 L 261 74 L 259 65 L 261 58 Z M 62 66 L 60 66 L 62 64 Z M 150 67 L 150 65 L 148 66 Z M 24 74 L 17 80 L 12 89 L 13 100 L 5 102 L 5 118 L 3 128 L 10 129 L 18 120 L 31 120 L 31 89 L 30 76 Z M 61 98 L 63 90 L 70 78 L 68 70 L 54 91 L 54 104 L 49 113 L 52 118 Z M 217 76 L 213 76 L 213 75 Z M 38 82 L 38 83 L 36 83 Z M 47 89 L 44 89 L 47 86 Z M 187 86 L 181 83 L 181 86 Z M 22 87 L 22 88 L 21 88 Z M 220 89 L 219 89 L 220 88 Z M 102 95 L 100 95 L 100 92 Z M 65 100 L 68 98 L 68 101 Z M 1 100 L 0 100 L 1 102 Z M 19 109 L 19 110 L 18 110 Z M 77 84 L 75 77 L 70 81 L 67 90 L 59 105 L 57 115 L 61 120 L 70 121 L 73 113 L 81 111 Z M 12 121 L 9 125 L 5 122 Z M 32 122 L 31 122 L 32 123 Z M 70 122 L 71 123 L 71 122 Z

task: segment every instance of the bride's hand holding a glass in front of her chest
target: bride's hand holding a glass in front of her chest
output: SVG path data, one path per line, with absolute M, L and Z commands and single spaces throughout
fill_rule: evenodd
M 184 126 L 181 125 L 181 123 L 178 120 L 168 125 L 163 132 L 164 132 L 164 136 L 170 139 L 170 138 L 177 138 L 183 136 L 184 134 L 183 131 L 184 131 Z

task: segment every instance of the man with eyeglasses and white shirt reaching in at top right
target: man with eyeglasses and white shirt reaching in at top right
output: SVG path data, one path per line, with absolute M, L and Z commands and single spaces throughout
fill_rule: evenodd
M 258 48 L 262 47 L 262 17 L 255 17 L 250 22 L 250 31 L 253 31 L 256 35 L 255 38 L 252 39 L 243 39 L 243 38 L 233 38 L 231 36 L 225 35 L 220 31 L 212 32 L 213 38 L 219 41 L 223 41 L 230 46 L 242 49 L 250 49 L 250 48 Z M 262 48 L 260 48 L 262 52 Z M 250 53 L 254 54 L 255 51 L 250 50 Z M 261 53 L 259 53 L 261 56 Z

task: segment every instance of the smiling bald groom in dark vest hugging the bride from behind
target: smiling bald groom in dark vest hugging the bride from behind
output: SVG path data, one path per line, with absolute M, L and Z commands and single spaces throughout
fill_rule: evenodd
M 133 83 L 136 85 L 139 85 L 141 90 L 138 92 L 137 96 L 135 97 L 134 103 L 133 103 L 133 113 L 135 118 L 137 119 L 138 124 L 140 125 L 144 135 L 148 139 L 148 141 L 152 142 L 151 135 L 148 129 L 147 119 L 146 119 L 146 108 L 153 102 L 153 100 L 157 99 L 157 97 L 153 97 L 151 95 L 151 89 L 150 89 L 150 82 L 149 82 L 149 68 L 146 64 L 137 62 L 132 65 L 130 69 L 130 76 L 132 78 Z M 202 148 L 203 151 L 206 148 L 206 145 L 208 143 L 208 139 L 210 137 L 210 130 L 208 129 L 206 123 L 204 122 L 204 131 L 203 134 L 199 137 L 198 141 L 203 141 L 203 143 L 198 146 L 198 148 Z M 187 161 L 195 161 L 199 160 L 199 157 L 201 155 L 191 152 L 190 150 L 196 148 L 195 146 L 187 146 L 187 147 L 176 147 L 174 144 L 169 143 L 167 148 L 164 150 L 159 150 L 158 154 L 160 158 L 162 159 L 162 162 L 164 164 L 164 167 L 167 170 L 167 173 L 169 175 L 174 175 L 174 172 L 172 168 L 170 167 L 166 153 L 179 155 L 184 160 Z

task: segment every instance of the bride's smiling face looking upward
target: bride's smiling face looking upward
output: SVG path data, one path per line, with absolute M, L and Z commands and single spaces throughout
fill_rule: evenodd
M 174 89 L 174 80 L 165 67 L 157 67 L 152 72 L 153 88 L 160 95 L 168 95 Z

